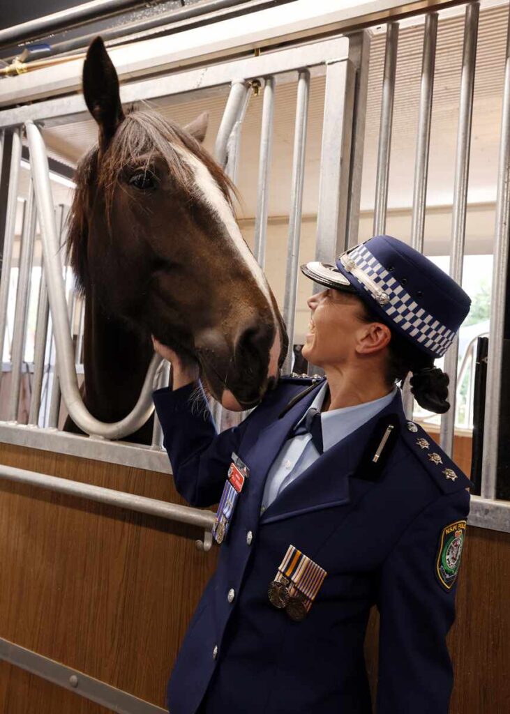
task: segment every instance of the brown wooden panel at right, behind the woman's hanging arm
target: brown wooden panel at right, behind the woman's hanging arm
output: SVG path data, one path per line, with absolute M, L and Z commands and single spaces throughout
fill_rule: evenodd
M 468 527 L 448 637 L 455 680 L 449 714 L 509 714 L 510 534 Z M 424 623 L 426 627 L 426 623 Z M 379 616 L 371 613 L 365 656 L 376 693 Z

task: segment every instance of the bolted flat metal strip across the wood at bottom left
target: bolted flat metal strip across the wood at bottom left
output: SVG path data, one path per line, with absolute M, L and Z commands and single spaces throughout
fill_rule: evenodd
M 166 709 L 139 699 L 89 675 L 74 670 L 21 645 L 0 638 L 0 660 L 63 687 L 74 694 L 103 705 L 117 714 L 167 714 Z M 78 707 L 76 707 L 78 708 Z

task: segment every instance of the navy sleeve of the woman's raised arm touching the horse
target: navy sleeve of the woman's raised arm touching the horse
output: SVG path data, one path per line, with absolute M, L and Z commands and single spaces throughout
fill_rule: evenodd
M 177 491 L 190 506 L 218 503 L 245 422 L 217 434 L 198 383 L 158 389 L 153 398 Z

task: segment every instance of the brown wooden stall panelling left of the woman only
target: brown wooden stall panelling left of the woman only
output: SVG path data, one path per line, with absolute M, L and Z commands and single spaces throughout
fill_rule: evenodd
M 166 474 L 6 445 L 0 461 L 184 503 Z M 164 706 L 181 639 L 216 567 L 215 549 L 196 550 L 202 535 L 0 480 L 0 572 L 9 573 L 9 587 L 0 588 L 0 637 Z M 46 702 L 35 710 L 76 712 Z

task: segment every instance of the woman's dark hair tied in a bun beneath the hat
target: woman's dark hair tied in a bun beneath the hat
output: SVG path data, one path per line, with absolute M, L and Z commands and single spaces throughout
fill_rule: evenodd
M 368 305 L 357 298 L 361 322 L 381 322 L 379 316 L 371 311 Z M 415 347 L 408 339 L 389 328 L 391 340 L 388 345 L 388 360 L 386 361 L 386 382 L 393 387 L 396 381 L 402 386 L 409 372 L 411 377 L 411 392 L 416 401 L 427 411 L 444 414 L 450 408 L 448 385 L 450 378 L 439 367 L 434 367 L 434 357 Z

